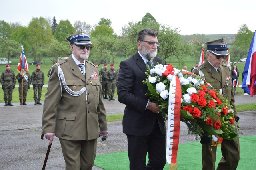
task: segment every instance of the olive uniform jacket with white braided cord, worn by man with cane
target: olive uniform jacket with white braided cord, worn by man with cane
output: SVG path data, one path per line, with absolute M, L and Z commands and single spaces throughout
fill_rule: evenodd
M 58 66 L 70 90 L 80 91 L 86 87 L 87 102 L 86 92 L 74 97 L 66 91 L 58 76 Z M 84 77 L 72 55 L 52 67 L 45 94 L 42 134 L 55 132 L 55 136 L 65 140 L 92 140 L 99 137 L 100 130 L 107 130 L 99 71 L 87 60 L 85 67 Z

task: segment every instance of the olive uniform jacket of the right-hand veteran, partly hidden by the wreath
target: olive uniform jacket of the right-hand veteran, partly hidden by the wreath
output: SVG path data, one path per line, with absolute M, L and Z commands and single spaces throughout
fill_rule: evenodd
M 232 78 L 230 68 L 226 64 L 220 66 L 221 75 L 216 71 L 216 69 L 209 63 L 208 59 L 192 72 L 200 75 L 200 71 L 204 73 L 205 80 L 212 85 L 215 89 L 222 89 L 223 97 L 228 99 L 231 108 L 234 109 L 234 117 L 238 117 L 238 113 L 235 107 L 235 97 L 232 90 Z M 239 120 L 239 117 L 238 117 Z

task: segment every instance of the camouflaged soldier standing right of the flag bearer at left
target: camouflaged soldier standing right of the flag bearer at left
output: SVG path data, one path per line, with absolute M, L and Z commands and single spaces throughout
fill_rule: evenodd
M 40 103 L 40 99 L 42 95 L 42 87 L 44 85 L 44 73 L 40 70 L 40 67 L 40 63 L 37 63 L 36 70 L 33 71 L 31 75 L 31 83 L 33 85 L 34 90 L 35 105 L 42 105 L 42 103 Z M 36 97 L 36 93 L 38 93 L 38 97 Z

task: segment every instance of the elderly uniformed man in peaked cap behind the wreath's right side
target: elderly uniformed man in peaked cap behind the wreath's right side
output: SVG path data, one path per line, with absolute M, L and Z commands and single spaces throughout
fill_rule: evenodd
M 228 99 L 231 108 L 234 109 L 234 117 L 238 122 L 239 117 L 235 107 L 235 98 L 232 91 L 232 79 L 230 68 L 223 61 L 228 55 L 225 38 L 206 42 L 207 60 L 193 70 L 193 73 L 204 76 L 215 89 L 220 89 L 223 97 Z M 229 109 L 231 109 L 229 108 Z M 202 144 L 202 169 L 215 170 L 216 146 L 211 146 L 212 138 L 205 134 L 201 138 Z M 221 144 L 222 158 L 217 170 L 235 170 L 240 159 L 239 138 L 233 140 L 223 139 Z

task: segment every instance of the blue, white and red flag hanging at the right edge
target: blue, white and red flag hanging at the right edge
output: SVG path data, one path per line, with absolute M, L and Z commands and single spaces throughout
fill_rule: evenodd
M 256 31 L 255 31 L 256 32 Z M 247 55 L 246 63 L 243 71 L 242 89 L 251 97 L 255 95 L 256 87 L 256 39 L 255 32 L 252 37 L 252 43 Z

